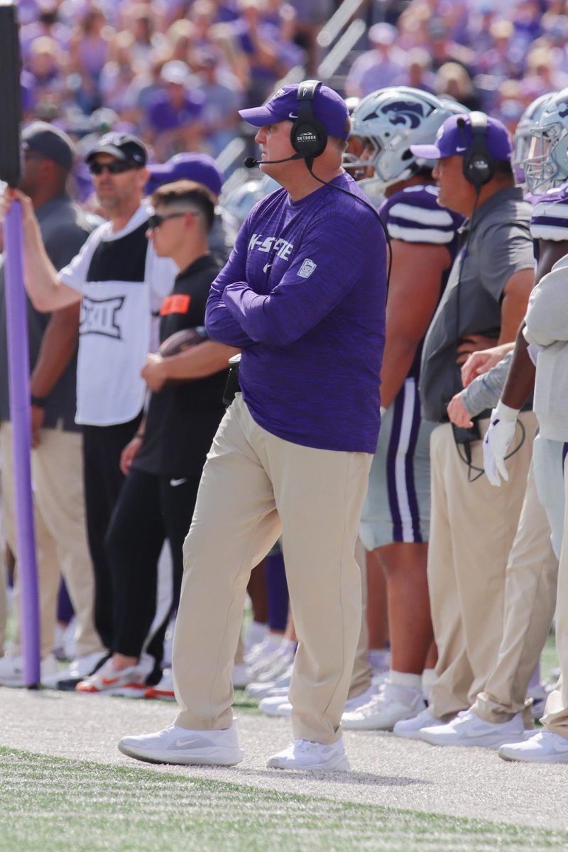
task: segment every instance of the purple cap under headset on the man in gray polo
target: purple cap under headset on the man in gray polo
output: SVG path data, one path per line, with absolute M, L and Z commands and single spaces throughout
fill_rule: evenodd
M 439 127 L 433 145 L 410 145 L 410 151 L 421 159 L 440 159 L 468 153 L 472 145 L 472 112 L 462 112 L 446 118 Z M 487 118 L 485 145 L 487 152 L 496 160 L 510 160 L 512 147 L 508 130 L 496 118 Z

